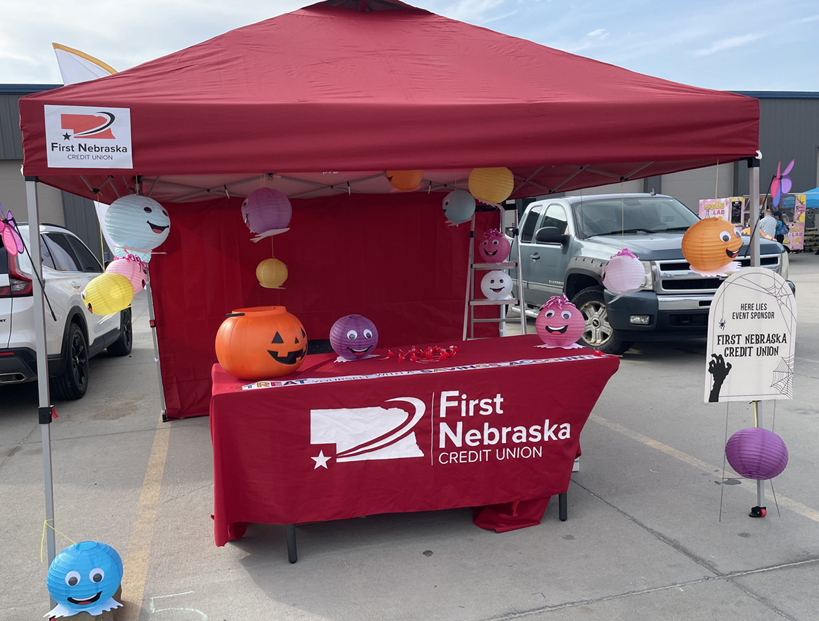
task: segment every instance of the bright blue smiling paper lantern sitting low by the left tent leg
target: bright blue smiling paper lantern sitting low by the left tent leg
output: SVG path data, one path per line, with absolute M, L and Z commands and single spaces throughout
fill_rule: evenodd
M 119 608 L 114 594 L 122 582 L 122 559 L 102 542 L 83 541 L 66 547 L 52 560 L 46 586 L 57 606 L 46 616 L 97 615 Z

